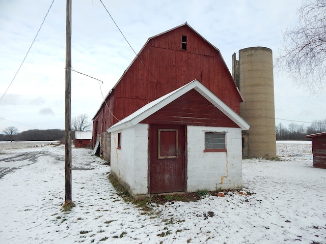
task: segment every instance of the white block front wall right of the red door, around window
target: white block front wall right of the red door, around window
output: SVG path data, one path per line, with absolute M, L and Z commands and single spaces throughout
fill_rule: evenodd
M 205 152 L 205 132 L 225 132 L 227 152 Z M 187 191 L 242 188 L 241 129 L 187 127 Z

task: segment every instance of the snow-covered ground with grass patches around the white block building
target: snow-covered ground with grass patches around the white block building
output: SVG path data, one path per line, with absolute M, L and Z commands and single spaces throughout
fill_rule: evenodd
M 243 160 L 252 195 L 153 204 L 144 214 L 117 195 L 110 166 L 73 147 L 76 206 L 65 212 L 64 146 L 0 143 L 0 243 L 326 243 L 326 170 L 312 167 L 310 141 L 279 141 L 277 151 L 280 161 Z

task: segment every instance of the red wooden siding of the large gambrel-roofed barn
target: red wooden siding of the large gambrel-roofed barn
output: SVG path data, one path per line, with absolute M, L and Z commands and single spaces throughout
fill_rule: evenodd
M 181 49 L 182 36 L 187 37 L 187 50 Z M 187 24 L 151 38 L 139 57 L 142 63 L 135 58 L 114 87 L 114 92 L 106 98 L 118 119 L 194 79 L 239 114 L 242 99 L 221 53 Z M 93 119 L 93 141 L 118 119 L 103 103 Z

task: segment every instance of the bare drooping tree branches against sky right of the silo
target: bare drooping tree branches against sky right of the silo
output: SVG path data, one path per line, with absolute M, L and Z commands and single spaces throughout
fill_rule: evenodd
M 322 93 L 326 78 L 326 0 L 305 0 L 298 13 L 298 26 L 283 34 L 276 67 L 311 93 Z

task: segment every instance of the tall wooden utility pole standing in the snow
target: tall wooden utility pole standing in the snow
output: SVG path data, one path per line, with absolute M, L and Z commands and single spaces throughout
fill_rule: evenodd
M 67 0 L 66 18 L 66 96 L 65 96 L 65 179 L 66 201 L 71 199 L 71 1 Z

